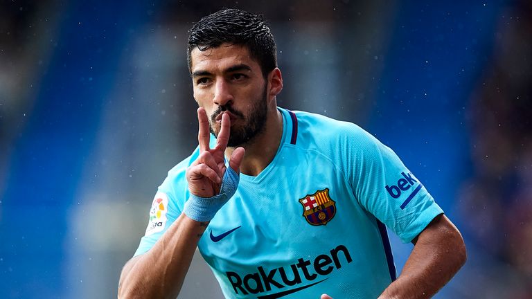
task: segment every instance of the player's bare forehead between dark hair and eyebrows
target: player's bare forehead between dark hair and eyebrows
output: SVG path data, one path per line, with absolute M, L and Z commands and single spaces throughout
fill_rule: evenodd
M 236 64 L 247 64 L 254 71 L 260 66 L 249 54 L 246 46 L 222 44 L 216 48 L 199 51 L 196 47 L 190 52 L 190 71 L 224 70 Z

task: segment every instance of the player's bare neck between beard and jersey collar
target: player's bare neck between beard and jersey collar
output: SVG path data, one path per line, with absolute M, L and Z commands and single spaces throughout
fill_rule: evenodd
M 259 135 L 246 145 L 246 154 L 240 164 L 240 172 L 249 176 L 258 176 L 274 160 L 283 137 L 283 115 L 277 107 L 268 111 L 265 128 Z M 234 147 L 227 147 L 227 158 L 233 153 Z

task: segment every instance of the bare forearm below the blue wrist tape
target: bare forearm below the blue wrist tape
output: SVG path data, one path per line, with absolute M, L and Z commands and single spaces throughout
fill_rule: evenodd
M 118 298 L 175 298 L 206 225 L 181 214 L 150 251 L 125 264 Z

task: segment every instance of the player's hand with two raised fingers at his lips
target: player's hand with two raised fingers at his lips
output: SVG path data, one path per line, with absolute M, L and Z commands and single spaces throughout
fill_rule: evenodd
M 190 193 L 198 197 L 208 198 L 220 193 L 222 178 L 226 170 L 224 154 L 229 141 L 231 120 L 229 120 L 229 116 L 222 115 L 220 134 L 218 134 L 216 146 L 213 149 L 209 147 L 209 119 L 205 109 L 202 107 L 197 109 L 197 120 L 199 123 L 199 132 L 197 134 L 199 156 L 186 170 L 186 181 L 188 181 Z M 240 172 L 240 163 L 242 163 L 244 154 L 245 149 L 242 147 L 237 147 L 231 154 L 229 167 L 237 174 Z

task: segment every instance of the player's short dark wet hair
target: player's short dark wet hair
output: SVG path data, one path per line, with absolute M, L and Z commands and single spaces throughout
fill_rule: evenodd
M 246 46 L 265 78 L 277 67 L 274 35 L 260 15 L 238 9 L 219 10 L 199 20 L 188 34 L 188 71 L 192 67 L 190 53 L 194 48 L 206 51 L 224 43 Z

